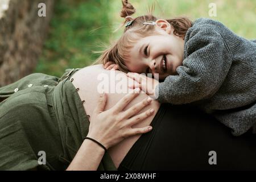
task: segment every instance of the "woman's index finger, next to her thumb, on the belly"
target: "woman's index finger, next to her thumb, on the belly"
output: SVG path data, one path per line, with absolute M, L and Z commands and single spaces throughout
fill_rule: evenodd
M 140 89 L 134 89 L 133 93 L 126 94 L 121 100 L 117 102 L 112 108 L 115 113 L 121 112 L 135 97 L 139 95 Z

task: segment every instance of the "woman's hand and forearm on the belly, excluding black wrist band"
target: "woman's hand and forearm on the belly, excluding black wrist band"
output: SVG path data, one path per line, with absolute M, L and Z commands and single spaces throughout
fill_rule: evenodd
M 107 101 L 106 94 L 101 94 L 98 105 L 90 119 L 87 137 L 93 138 L 109 148 L 127 137 L 150 131 L 151 126 L 136 129 L 131 126 L 154 113 L 154 110 L 147 110 L 137 114 L 143 107 L 150 104 L 151 99 L 143 100 L 123 111 L 127 104 L 138 96 L 139 91 L 137 89 L 136 93 L 126 94 L 117 104 L 106 111 L 104 111 Z M 97 170 L 104 154 L 104 148 L 101 148 L 92 140 L 85 139 L 67 170 Z

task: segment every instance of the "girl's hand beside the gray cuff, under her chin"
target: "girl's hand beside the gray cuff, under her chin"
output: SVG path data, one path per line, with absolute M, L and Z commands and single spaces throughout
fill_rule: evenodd
M 129 88 L 140 88 L 151 98 L 158 97 L 158 94 L 155 94 L 155 88 L 159 84 L 158 80 L 138 73 L 127 73 L 127 76 L 135 80 L 133 84 L 129 85 Z

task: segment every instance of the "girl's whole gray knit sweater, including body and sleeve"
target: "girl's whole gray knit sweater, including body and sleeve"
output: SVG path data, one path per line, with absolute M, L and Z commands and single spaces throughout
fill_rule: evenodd
M 256 42 L 215 20 L 197 19 L 185 35 L 183 65 L 176 71 L 156 88 L 160 102 L 196 105 L 233 135 L 256 131 Z

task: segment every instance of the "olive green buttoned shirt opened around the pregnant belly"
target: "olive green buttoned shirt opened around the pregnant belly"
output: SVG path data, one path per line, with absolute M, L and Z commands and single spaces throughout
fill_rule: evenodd
M 61 78 L 34 73 L 0 88 L 1 170 L 67 169 L 89 129 L 68 80 L 75 71 Z M 98 170 L 116 170 L 108 152 Z

